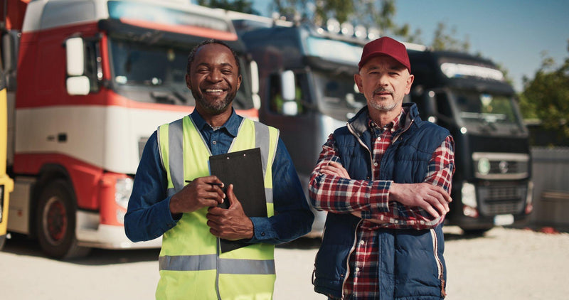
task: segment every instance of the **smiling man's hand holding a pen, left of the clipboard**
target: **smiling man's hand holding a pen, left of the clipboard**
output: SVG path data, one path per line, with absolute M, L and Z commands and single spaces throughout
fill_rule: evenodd
M 221 186 L 216 186 L 221 184 Z M 200 208 L 217 206 L 223 203 L 223 183 L 217 176 L 199 177 L 188 183 L 170 198 L 172 215 L 191 213 Z

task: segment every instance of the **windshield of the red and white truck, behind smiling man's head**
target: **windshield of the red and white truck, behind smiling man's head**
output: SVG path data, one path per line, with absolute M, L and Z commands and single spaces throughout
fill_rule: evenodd
M 186 87 L 186 65 L 193 45 L 176 48 L 149 45 L 117 38 L 109 41 L 112 55 L 112 77 L 115 90 L 140 102 L 171 105 L 195 105 Z M 243 75 L 245 62 L 240 61 L 243 82 L 235 97 L 235 109 L 250 109 L 248 77 Z

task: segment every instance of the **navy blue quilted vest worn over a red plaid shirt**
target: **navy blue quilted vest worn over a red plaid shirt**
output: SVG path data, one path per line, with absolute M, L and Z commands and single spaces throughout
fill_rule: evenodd
M 395 132 L 393 144 L 381 161 L 381 178 L 373 179 L 395 183 L 422 182 L 432 153 L 450 134 L 447 129 L 422 121 L 414 104 L 403 107 L 407 112 L 405 129 Z M 340 162 L 352 179 L 372 179 L 371 152 L 368 150 L 371 149 L 371 132 L 367 118 L 367 107 L 364 107 L 350 119 L 350 129 L 341 127 L 334 132 Z M 315 291 L 334 298 L 341 296 L 360 220 L 349 214 L 328 213 L 315 263 Z M 442 225 L 432 230 L 380 229 L 378 243 L 380 299 L 443 298 L 446 267 L 442 257 Z

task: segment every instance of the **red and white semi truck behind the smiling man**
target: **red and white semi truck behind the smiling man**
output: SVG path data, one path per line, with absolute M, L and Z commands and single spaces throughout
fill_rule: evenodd
M 243 84 L 234 107 L 258 119 L 257 70 L 232 23 L 187 1 L 1 2 L 15 181 L 8 231 L 58 258 L 160 247 L 130 242 L 123 218 L 148 136 L 193 110 L 184 76 L 194 45 L 216 38 L 235 48 Z

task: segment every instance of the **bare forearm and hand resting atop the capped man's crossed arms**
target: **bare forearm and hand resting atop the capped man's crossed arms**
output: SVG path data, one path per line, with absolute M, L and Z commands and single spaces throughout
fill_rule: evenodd
M 420 207 L 435 218 L 448 213 L 452 201 L 443 188 L 430 183 L 392 183 L 389 200 Z

